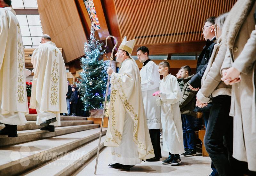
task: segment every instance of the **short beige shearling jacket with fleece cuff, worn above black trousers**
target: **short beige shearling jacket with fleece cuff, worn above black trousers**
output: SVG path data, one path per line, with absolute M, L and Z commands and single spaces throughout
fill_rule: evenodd
M 203 103 L 210 101 L 211 97 L 219 95 L 231 96 L 231 86 L 221 81 L 220 68 L 225 58 L 227 46 L 218 38 L 214 45 L 212 56 L 208 62 L 207 68 L 201 81 L 201 89 L 197 92 L 196 97 Z

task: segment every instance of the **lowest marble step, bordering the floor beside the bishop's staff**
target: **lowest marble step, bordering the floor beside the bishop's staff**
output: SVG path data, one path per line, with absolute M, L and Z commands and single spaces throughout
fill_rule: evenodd
M 105 136 L 101 138 L 100 149 L 104 148 Z M 87 162 L 97 154 L 99 139 L 93 140 L 84 146 L 73 150 L 67 155 L 59 159 L 52 160 L 43 165 L 40 165 L 33 170 L 25 172 L 21 175 L 26 176 L 45 176 L 45 175 L 63 175 L 68 176 L 76 172 L 80 167 L 85 166 Z M 101 158 L 102 159 L 102 158 Z M 93 175 L 93 173 L 87 173 Z

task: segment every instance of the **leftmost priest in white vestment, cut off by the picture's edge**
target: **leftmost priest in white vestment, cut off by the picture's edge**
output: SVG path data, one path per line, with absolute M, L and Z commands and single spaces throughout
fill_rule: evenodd
M 25 57 L 11 1 L 0 1 L 0 135 L 17 137 L 17 125 L 27 123 Z

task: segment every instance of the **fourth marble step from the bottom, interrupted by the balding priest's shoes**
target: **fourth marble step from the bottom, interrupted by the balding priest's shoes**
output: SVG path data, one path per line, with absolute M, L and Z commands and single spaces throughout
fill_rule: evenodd
M 93 124 L 92 120 L 64 120 L 60 122 L 60 126 L 74 126 L 74 125 L 85 125 L 85 124 Z M 22 130 L 35 130 L 39 129 L 40 126 L 36 124 L 36 121 L 28 121 L 26 125 L 18 125 L 18 131 Z

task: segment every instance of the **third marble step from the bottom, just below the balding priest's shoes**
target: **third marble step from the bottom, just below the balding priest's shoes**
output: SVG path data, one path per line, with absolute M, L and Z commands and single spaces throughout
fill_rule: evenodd
M 42 138 L 59 136 L 59 135 L 68 134 L 72 132 L 80 132 L 80 131 L 89 130 L 92 128 L 98 128 L 99 126 L 100 126 L 99 124 L 62 126 L 62 127 L 56 127 L 55 132 L 48 132 L 46 130 L 39 130 L 39 129 L 18 131 L 18 137 L 16 138 L 9 138 L 8 136 L 0 135 L 0 147 L 20 144 L 20 143 L 28 142 L 32 140 L 39 140 Z

